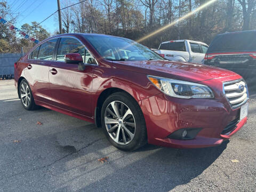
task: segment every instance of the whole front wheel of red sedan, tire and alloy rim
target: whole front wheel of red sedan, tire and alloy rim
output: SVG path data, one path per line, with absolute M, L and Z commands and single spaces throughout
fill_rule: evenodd
M 118 92 L 105 100 L 101 124 L 108 140 L 119 149 L 135 150 L 147 143 L 145 119 L 129 94 Z

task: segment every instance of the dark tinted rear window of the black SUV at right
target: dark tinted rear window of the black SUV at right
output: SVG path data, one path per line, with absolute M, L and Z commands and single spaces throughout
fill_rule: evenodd
M 243 52 L 256 50 L 256 32 L 227 33 L 216 36 L 207 52 Z

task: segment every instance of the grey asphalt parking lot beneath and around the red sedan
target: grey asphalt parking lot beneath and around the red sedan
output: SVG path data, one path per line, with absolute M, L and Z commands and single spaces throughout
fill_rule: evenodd
M 218 147 L 129 153 L 93 124 L 26 111 L 14 81 L 0 81 L 0 191 L 255 191 L 254 95 L 249 105 L 247 124 Z

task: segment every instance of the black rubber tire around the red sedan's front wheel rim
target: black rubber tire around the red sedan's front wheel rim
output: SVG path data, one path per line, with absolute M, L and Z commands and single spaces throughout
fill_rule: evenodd
M 134 134 L 133 140 L 130 143 L 128 143 L 127 145 L 120 145 L 120 144 L 116 143 L 109 136 L 108 131 L 106 129 L 105 111 L 106 111 L 106 108 L 109 105 L 109 103 L 112 101 L 121 101 L 127 107 L 129 107 L 130 110 L 132 111 L 134 121 L 135 121 L 135 134 Z M 105 133 L 107 139 L 112 143 L 112 145 L 114 145 L 116 148 L 122 149 L 122 150 L 134 150 L 135 148 L 137 148 L 137 146 L 140 144 L 140 141 L 141 141 L 142 131 L 143 131 L 142 129 L 145 129 L 145 120 L 143 119 L 143 121 L 142 121 L 140 113 L 142 113 L 142 111 L 141 111 L 139 105 L 137 104 L 137 102 L 132 97 L 129 97 L 129 95 L 122 93 L 122 92 L 111 94 L 105 100 L 105 102 L 103 102 L 103 105 L 101 108 L 101 125 L 102 125 L 103 132 Z

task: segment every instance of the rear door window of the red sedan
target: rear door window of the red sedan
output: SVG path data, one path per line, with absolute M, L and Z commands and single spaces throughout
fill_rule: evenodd
M 52 60 L 54 47 L 57 42 L 57 38 L 51 39 L 40 46 L 37 59 Z

